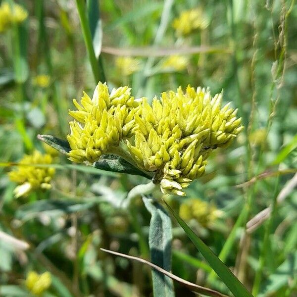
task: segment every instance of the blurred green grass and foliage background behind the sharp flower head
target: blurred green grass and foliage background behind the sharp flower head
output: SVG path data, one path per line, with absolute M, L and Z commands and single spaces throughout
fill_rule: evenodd
M 141 198 L 129 209 L 119 203 L 147 180 L 71 166 L 37 140 L 65 139 L 72 98 L 96 85 L 76 2 L 0 5 L 0 232 L 22 241 L 1 235 L 0 295 L 152 296 L 147 267 L 99 250 L 148 258 L 149 213 Z M 238 107 L 245 131 L 212 154 L 186 198 L 167 201 L 254 296 L 297 296 L 294 0 L 104 0 L 99 8 L 95 53 L 109 86 L 152 99 L 191 84 L 223 90 Z M 15 198 L 7 173 L 35 149 L 51 154 L 51 189 Z M 268 220 L 254 218 L 269 205 Z M 173 224 L 172 272 L 229 294 Z M 194 296 L 179 284 L 175 291 Z

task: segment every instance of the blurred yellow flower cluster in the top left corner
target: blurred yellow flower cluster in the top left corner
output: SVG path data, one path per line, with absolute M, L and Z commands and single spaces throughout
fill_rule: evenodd
M 3 2 L 0 5 L 0 33 L 9 29 L 14 22 L 21 23 L 27 17 L 28 12 L 22 6 Z

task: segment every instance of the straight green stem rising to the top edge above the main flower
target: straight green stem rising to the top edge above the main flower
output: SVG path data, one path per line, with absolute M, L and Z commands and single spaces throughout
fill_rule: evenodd
M 96 59 L 95 51 L 93 48 L 93 42 L 92 42 L 92 35 L 89 27 L 89 23 L 87 20 L 87 14 L 86 14 L 86 8 L 85 8 L 85 1 L 84 0 L 76 0 L 76 7 L 79 14 L 79 19 L 82 26 L 82 32 L 85 40 L 85 45 L 88 51 L 94 79 L 96 83 L 100 81 L 99 77 L 99 67 L 98 67 L 98 61 Z

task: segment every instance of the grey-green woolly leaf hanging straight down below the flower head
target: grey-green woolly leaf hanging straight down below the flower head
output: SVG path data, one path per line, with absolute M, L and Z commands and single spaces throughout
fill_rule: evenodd
M 151 214 L 149 223 L 148 245 L 151 262 L 171 270 L 171 220 L 164 208 L 152 199 L 143 196 L 146 208 Z M 152 287 L 154 297 L 174 297 L 173 282 L 170 278 L 152 270 Z

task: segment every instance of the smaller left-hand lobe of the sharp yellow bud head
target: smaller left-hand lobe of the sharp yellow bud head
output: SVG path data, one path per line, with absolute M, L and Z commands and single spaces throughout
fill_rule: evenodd
M 131 137 L 138 103 L 130 90 L 120 87 L 109 94 L 106 84 L 99 82 L 92 99 L 86 93 L 81 105 L 73 99 L 77 110 L 69 114 L 76 121 L 69 123 L 71 133 L 67 136 L 71 161 L 93 163 L 121 139 Z

